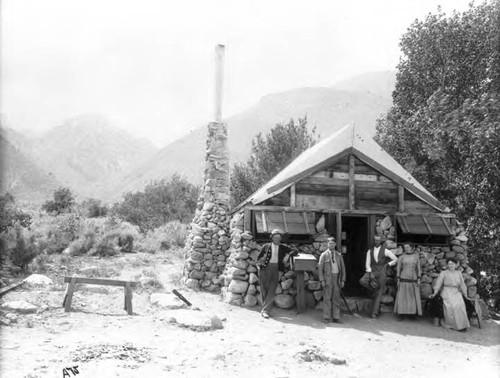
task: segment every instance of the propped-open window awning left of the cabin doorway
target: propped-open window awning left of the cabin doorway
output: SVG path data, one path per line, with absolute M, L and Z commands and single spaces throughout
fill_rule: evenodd
M 254 214 L 258 233 L 268 233 L 275 228 L 292 235 L 316 233 L 314 213 L 254 210 Z

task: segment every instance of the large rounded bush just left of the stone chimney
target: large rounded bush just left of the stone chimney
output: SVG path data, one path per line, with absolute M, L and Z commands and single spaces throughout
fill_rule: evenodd
M 139 226 L 141 231 L 153 230 L 169 221 L 190 222 L 194 216 L 198 188 L 181 178 L 172 176 L 146 186 L 144 192 L 127 193 L 113 213 L 124 221 Z

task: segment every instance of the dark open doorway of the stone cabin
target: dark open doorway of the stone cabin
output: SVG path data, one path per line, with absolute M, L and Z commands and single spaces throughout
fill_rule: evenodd
M 342 215 L 342 252 L 346 267 L 345 296 L 364 295 L 359 279 L 365 273 L 368 250 L 368 216 Z

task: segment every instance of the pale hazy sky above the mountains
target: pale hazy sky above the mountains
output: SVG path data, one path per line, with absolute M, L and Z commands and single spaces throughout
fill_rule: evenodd
M 2 0 L 1 111 L 38 131 L 104 114 L 165 145 L 212 120 L 218 43 L 227 117 L 269 93 L 393 70 L 412 21 L 469 2 Z

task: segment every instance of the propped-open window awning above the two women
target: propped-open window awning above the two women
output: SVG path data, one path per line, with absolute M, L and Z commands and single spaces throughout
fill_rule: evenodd
M 396 219 L 403 234 L 453 235 L 451 218 L 438 215 L 398 215 Z

